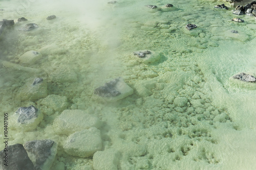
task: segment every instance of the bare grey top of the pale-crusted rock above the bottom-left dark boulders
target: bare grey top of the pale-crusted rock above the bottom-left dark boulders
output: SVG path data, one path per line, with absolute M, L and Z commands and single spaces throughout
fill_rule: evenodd
M 18 113 L 18 123 L 24 124 L 26 122 L 28 122 L 30 119 L 32 118 L 36 118 L 37 117 L 37 108 L 35 108 L 33 105 L 31 105 L 30 107 L 20 107 L 18 108 L 18 110 L 15 113 Z

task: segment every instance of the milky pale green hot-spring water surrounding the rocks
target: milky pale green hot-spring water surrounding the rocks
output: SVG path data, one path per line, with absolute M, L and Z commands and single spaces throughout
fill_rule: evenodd
M 254 169 L 256 86 L 230 77 L 255 75 L 255 17 L 233 22 L 238 16 L 232 8 L 214 8 L 225 2 L 107 2 L 0 2 L 0 19 L 29 19 L 0 37 L 1 110 L 12 115 L 34 105 L 44 113 L 36 130 L 10 130 L 9 144 L 52 139 L 58 152 L 50 169 L 93 169 L 93 157 L 63 151 L 68 134 L 57 135 L 52 127 L 63 110 L 80 109 L 101 120 L 102 151 L 120 153 L 117 169 Z M 167 3 L 174 7 L 166 9 Z M 55 20 L 46 20 L 53 14 Z M 18 31 L 30 22 L 40 28 Z M 198 28 L 188 31 L 187 23 Z M 145 49 L 160 60 L 137 62 L 132 53 Z M 43 57 L 19 67 L 19 57 L 31 50 Z M 67 102 L 22 100 L 20 91 L 35 77 L 47 81 L 49 95 Z M 118 77 L 134 94 L 112 103 L 98 100 L 94 89 Z

